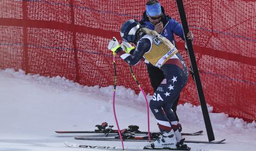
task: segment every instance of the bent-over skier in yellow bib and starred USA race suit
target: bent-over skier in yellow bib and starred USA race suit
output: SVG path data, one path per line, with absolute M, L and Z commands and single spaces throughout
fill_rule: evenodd
M 123 39 L 120 45 L 113 38 L 108 48 L 118 54 L 130 66 L 138 64 L 144 58 L 160 68 L 165 79 L 158 86 L 149 107 L 157 119 L 161 131 L 160 139 L 149 144 L 153 148 L 171 148 L 189 150 L 180 133 L 181 126 L 171 107 L 188 81 L 188 69 L 177 48 L 165 37 L 154 30 L 142 28 L 136 20 L 125 22 L 120 31 Z M 130 43 L 134 43 L 134 48 Z M 132 54 L 129 54 L 133 51 Z M 151 148 L 149 147 L 148 148 Z M 147 146 L 146 146 L 147 147 Z

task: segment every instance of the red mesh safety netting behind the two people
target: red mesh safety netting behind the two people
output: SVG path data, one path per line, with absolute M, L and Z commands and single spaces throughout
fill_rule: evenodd
M 175 1 L 160 1 L 179 21 Z M 146 1 L 2 0 L 0 1 L 0 68 L 60 75 L 80 84 L 114 83 L 108 41 L 130 18 L 140 20 Z M 184 1 L 193 48 L 207 103 L 214 111 L 247 121 L 256 119 L 256 2 Z M 176 37 L 186 64 L 184 42 Z M 117 84 L 139 88 L 127 64 L 116 60 Z M 152 92 L 145 64 L 133 67 L 146 92 Z M 117 90 L 118 91 L 118 90 Z M 198 105 L 191 77 L 180 103 Z

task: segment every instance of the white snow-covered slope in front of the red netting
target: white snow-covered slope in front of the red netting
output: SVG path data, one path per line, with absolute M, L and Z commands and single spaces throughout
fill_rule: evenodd
M 94 130 L 96 124 L 108 122 L 116 128 L 113 115 L 113 86 L 82 86 L 64 77 L 42 77 L 20 70 L 0 70 L 0 150 L 86 150 L 68 148 L 63 143 L 108 144 L 121 142 L 79 141 L 73 136 L 56 134 L 55 130 Z M 148 100 L 151 96 L 147 95 Z M 225 144 L 188 143 L 193 149 L 256 150 L 256 123 L 244 122 L 223 113 L 210 118 L 215 139 L 227 139 Z M 116 114 L 120 128 L 139 125 L 147 131 L 147 110 L 143 95 L 117 86 Z M 178 106 L 183 132 L 204 130 L 201 136 L 186 136 L 188 140 L 207 140 L 200 106 L 189 103 Z M 151 114 L 151 131 L 158 131 Z M 97 134 L 100 135 L 100 134 Z M 124 146 L 140 147 L 145 142 L 124 142 Z

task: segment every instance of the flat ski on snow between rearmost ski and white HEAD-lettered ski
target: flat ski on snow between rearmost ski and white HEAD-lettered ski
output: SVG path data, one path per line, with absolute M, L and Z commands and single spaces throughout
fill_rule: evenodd
M 93 140 L 93 141 L 120 141 L 119 138 L 104 138 L 104 137 L 84 137 L 84 136 L 76 136 L 74 137 L 76 140 Z M 156 140 L 154 137 L 152 140 Z M 221 144 L 224 143 L 226 139 L 220 140 L 220 141 L 199 141 L 199 140 L 185 140 L 185 143 L 211 143 L 211 144 Z M 148 137 L 123 137 L 123 141 L 148 141 Z

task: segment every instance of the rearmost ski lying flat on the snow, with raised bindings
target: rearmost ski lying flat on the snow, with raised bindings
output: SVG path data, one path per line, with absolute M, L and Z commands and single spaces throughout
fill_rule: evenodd
M 55 133 L 58 134 L 71 134 L 71 133 L 80 133 L 80 134 L 94 134 L 94 133 L 103 133 L 105 134 L 105 136 L 108 136 L 108 134 L 114 134 L 114 133 L 118 133 L 118 130 L 113 129 L 113 125 L 109 125 L 108 127 L 108 123 L 107 122 L 103 122 L 101 125 L 95 125 L 95 127 L 97 127 L 97 129 L 95 129 L 94 131 L 55 131 Z M 108 128 L 107 128 L 108 127 Z M 140 131 L 139 127 L 137 125 L 129 125 L 128 129 L 122 129 L 121 130 L 122 134 L 148 134 L 147 131 Z M 151 132 L 151 134 L 154 132 Z M 201 135 L 203 133 L 202 130 L 197 131 L 195 133 L 182 133 L 182 135 Z

